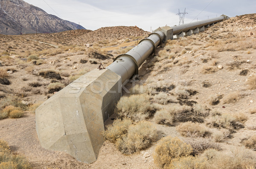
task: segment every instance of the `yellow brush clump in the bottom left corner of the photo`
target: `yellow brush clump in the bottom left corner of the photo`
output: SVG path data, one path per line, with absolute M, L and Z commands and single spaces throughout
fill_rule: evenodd
M 0 169 L 32 169 L 21 155 L 12 154 L 6 141 L 0 140 Z

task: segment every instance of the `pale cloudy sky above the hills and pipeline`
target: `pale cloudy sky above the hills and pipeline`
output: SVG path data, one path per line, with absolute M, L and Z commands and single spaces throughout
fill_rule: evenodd
M 106 26 L 138 26 L 145 31 L 179 24 L 178 9 L 186 12 L 185 23 L 225 14 L 229 17 L 256 13 L 256 0 L 25 0 L 48 14 L 96 30 Z

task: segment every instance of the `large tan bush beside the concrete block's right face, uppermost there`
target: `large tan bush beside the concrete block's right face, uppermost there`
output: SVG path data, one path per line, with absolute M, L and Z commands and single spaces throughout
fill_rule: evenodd
M 149 99 L 146 94 L 123 96 L 116 104 L 115 112 L 120 118 L 143 120 L 155 112 L 155 107 Z

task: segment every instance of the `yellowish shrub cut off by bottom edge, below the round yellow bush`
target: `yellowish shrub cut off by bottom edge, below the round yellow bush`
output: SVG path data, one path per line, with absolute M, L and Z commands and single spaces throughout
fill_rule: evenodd
M 206 158 L 189 155 L 175 158 L 166 169 L 206 169 L 206 164 Z

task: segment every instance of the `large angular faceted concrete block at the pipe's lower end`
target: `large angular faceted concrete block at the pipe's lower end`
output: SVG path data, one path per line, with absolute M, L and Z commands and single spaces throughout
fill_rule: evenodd
M 95 69 L 81 76 L 36 109 L 41 146 L 84 163 L 96 161 L 104 142 L 104 121 L 121 96 L 121 76 L 111 70 Z

